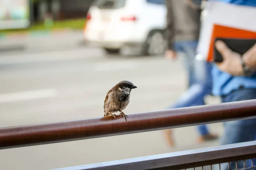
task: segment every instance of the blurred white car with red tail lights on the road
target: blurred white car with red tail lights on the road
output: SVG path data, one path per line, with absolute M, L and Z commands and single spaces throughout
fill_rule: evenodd
M 164 0 L 96 0 L 87 14 L 84 38 L 109 54 L 133 48 L 143 55 L 163 54 L 166 12 Z

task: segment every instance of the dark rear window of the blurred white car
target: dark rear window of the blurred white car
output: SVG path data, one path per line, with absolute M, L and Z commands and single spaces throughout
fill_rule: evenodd
M 101 9 L 117 9 L 125 6 L 125 0 L 96 0 L 93 6 Z

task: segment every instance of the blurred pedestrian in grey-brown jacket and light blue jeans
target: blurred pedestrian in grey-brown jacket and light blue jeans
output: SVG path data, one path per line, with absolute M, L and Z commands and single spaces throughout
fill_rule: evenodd
M 176 59 L 177 52 L 182 52 L 186 72 L 189 77 L 189 89 L 169 107 L 183 108 L 205 105 L 204 97 L 211 93 L 211 65 L 195 60 L 196 48 L 200 32 L 201 0 L 166 0 L 167 27 L 166 58 Z M 209 132 L 206 125 L 199 125 L 198 142 L 216 139 L 218 136 Z M 172 130 L 164 130 L 164 137 L 170 146 L 174 146 Z

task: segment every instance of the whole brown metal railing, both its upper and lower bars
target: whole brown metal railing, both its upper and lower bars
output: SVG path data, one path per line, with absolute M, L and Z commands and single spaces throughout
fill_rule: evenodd
M 163 111 L 0 128 L 0 149 L 256 118 L 256 99 Z M 256 142 L 89 164 L 60 170 L 180 170 L 256 158 Z M 253 170 L 253 167 L 251 167 Z M 256 169 L 255 169 L 256 170 Z

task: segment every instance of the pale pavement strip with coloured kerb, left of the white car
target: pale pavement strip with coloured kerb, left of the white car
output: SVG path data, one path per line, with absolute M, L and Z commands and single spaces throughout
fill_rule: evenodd
M 83 32 L 62 29 L 55 31 L 32 31 L 19 34 L 2 34 L 0 51 L 52 51 L 76 48 L 83 42 Z

